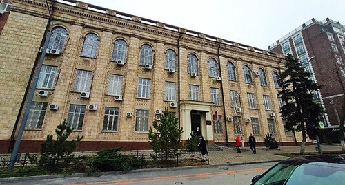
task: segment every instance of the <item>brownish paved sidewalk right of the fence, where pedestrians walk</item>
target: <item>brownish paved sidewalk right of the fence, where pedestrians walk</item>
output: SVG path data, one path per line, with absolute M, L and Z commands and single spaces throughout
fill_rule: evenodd
M 315 146 L 308 145 L 305 152 L 316 152 Z M 301 146 L 281 146 L 277 150 L 268 150 L 266 147 L 257 147 L 257 153 L 252 154 L 249 147 L 244 147 L 242 153 L 237 153 L 235 148 L 225 148 L 223 151 L 209 151 L 210 165 L 224 165 L 224 164 L 246 164 L 253 162 L 270 162 L 288 159 L 275 153 L 299 153 Z M 341 151 L 342 146 L 339 144 L 322 145 L 322 151 Z

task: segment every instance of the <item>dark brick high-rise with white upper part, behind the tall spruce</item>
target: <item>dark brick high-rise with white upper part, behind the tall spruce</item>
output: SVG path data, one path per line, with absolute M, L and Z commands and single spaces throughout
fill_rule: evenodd
M 322 120 L 326 134 L 338 141 L 339 122 L 344 116 L 345 89 L 345 25 L 331 19 L 311 19 L 279 39 L 268 49 L 279 54 L 297 56 L 313 80 L 321 85 L 314 100 L 319 102 L 326 114 Z

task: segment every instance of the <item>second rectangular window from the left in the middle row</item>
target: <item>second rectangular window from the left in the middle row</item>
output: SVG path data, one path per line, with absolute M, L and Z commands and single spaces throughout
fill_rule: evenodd
M 75 87 L 73 91 L 82 92 L 90 91 L 92 72 L 79 70 L 77 71 L 77 77 L 75 78 Z

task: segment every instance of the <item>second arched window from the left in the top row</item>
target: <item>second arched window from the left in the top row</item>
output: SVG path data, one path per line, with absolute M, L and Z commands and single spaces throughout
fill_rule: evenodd
M 81 56 L 95 58 L 96 52 L 97 52 L 97 45 L 98 45 L 97 34 L 86 34 L 84 43 L 83 43 L 83 50 L 81 50 Z

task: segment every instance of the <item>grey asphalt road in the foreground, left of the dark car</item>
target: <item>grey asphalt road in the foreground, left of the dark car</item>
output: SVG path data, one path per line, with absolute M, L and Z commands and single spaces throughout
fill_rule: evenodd
M 237 166 L 173 168 L 159 171 L 132 171 L 132 173 L 103 175 L 99 177 L 70 177 L 41 180 L 23 180 L 6 184 L 250 184 L 255 175 L 262 174 L 277 162 L 243 164 Z

